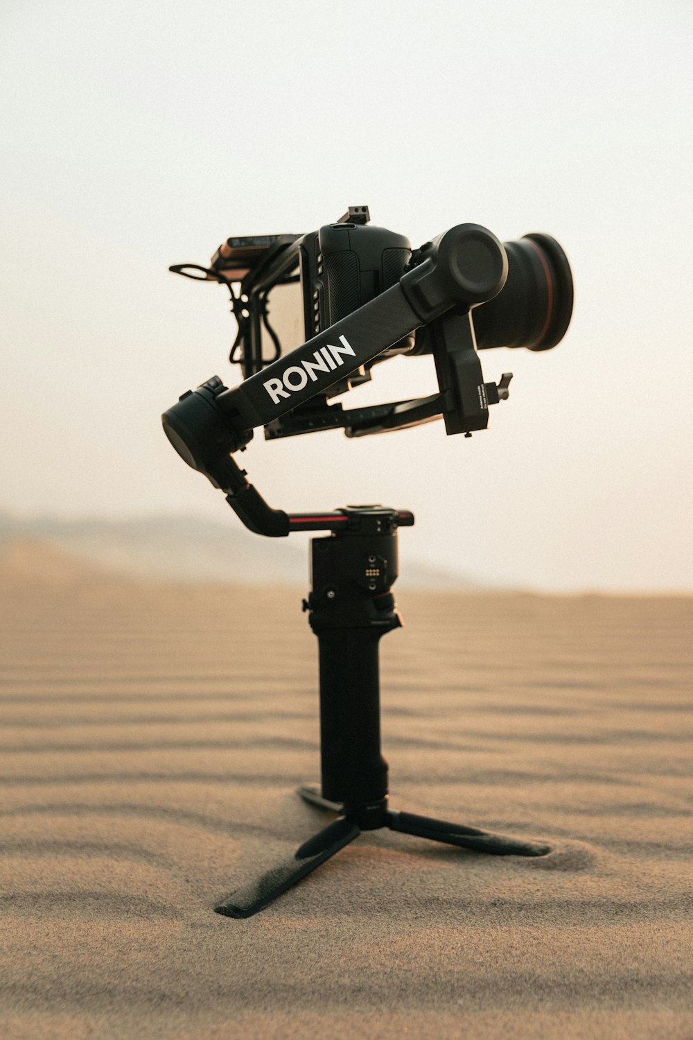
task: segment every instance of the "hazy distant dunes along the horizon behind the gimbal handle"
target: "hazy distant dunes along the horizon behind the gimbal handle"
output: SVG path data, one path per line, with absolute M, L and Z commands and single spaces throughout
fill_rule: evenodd
M 19 543 L 19 548 L 11 548 Z M 34 546 L 34 560 L 30 545 Z M 23 548 L 22 548 L 23 546 Z M 0 555 L 11 552 L 22 566 L 50 573 L 62 566 L 90 565 L 99 571 L 143 579 L 222 584 L 299 586 L 309 580 L 304 542 L 261 538 L 234 516 L 228 523 L 199 517 L 151 517 L 133 520 L 22 520 L 0 514 Z M 62 565 L 51 553 L 66 554 Z M 68 564 L 68 558 L 73 563 Z M 15 566 L 15 565 L 12 565 Z M 17 564 L 19 566 L 19 564 Z M 472 591 L 483 588 L 463 574 L 406 562 L 410 589 Z

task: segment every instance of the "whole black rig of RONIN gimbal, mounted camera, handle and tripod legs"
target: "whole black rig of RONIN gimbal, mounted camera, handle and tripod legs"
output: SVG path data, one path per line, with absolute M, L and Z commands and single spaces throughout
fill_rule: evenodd
M 166 436 L 256 534 L 329 531 L 312 540 L 312 591 L 303 601 L 319 644 L 321 787 L 300 787 L 299 794 L 338 818 L 215 908 L 231 917 L 257 913 L 362 830 L 387 827 L 497 855 L 549 852 L 388 807 L 378 643 L 401 625 L 391 590 L 398 574 L 397 529 L 410 526 L 412 514 L 380 505 L 287 514 L 267 504 L 233 458 L 256 426 L 264 426 L 268 439 L 335 426 L 356 437 L 442 416 L 448 434 L 471 436 L 486 427 L 489 406 L 507 398 L 511 379 L 505 373 L 498 384 L 484 383 L 478 349 L 548 349 L 565 334 L 572 280 L 550 236 L 530 235 L 504 248 L 485 228 L 463 224 L 411 252 L 405 238 L 368 220 L 367 207 L 351 207 L 319 232 L 229 239 L 209 268 L 171 268 L 196 278 L 194 269 L 230 287 L 239 323 L 232 360 L 240 360 L 246 378 L 229 390 L 213 376 L 183 394 L 162 417 Z M 303 311 L 306 342 L 288 354 L 270 323 L 269 296 L 277 286 L 297 290 Z M 433 354 L 437 394 L 352 410 L 329 404 L 370 379 L 384 358 L 424 353 Z

